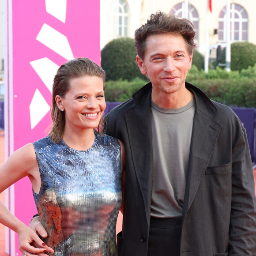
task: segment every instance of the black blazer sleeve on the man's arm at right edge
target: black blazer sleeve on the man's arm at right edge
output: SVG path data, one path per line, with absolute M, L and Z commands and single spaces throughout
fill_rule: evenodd
M 245 128 L 233 144 L 229 255 L 256 255 L 256 196 Z M 241 131 L 241 130 L 240 130 Z

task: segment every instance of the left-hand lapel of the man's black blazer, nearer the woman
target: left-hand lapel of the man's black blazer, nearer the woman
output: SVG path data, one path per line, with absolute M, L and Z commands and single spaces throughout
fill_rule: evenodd
M 151 94 L 148 95 L 150 97 Z M 153 153 L 151 139 L 151 99 L 138 103 L 125 112 L 132 161 L 143 195 L 148 223 L 153 181 Z

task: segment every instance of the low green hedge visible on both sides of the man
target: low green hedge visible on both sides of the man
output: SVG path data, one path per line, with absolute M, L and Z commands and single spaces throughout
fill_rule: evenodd
M 205 73 L 192 65 L 187 82 L 202 89 L 208 97 L 233 107 L 256 108 L 256 65 L 238 71 L 226 72 L 221 68 Z M 124 102 L 146 84 L 143 79 L 105 82 L 105 99 L 109 102 Z

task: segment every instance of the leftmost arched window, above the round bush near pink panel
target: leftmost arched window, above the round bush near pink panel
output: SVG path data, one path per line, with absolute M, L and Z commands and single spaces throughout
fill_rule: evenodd
M 113 6 L 113 35 L 115 37 L 128 36 L 128 6 L 123 0 L 119 0 Z

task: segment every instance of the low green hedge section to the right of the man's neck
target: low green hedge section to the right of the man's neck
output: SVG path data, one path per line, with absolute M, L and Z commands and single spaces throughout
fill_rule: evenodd
M 186 81 L 199 87 L 216 102 L 233 107 L 256 108 L 256 65 L 243 70 L 241 74 L 219 67 L 208 73 L 193 68 L 188 72 Z

